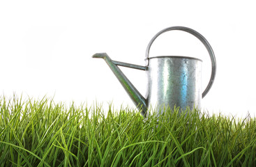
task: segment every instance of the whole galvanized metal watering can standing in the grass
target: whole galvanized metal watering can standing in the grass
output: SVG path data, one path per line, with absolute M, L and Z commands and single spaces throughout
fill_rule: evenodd
M 153 41 L 160 34 L 172 30 L 186 31 L 198 38 L 206 47 L 211 57 L 212 69 L 211 79 L 203 92 L 201 83 L 202 61 L 198 58 L 186 56 L 149 57 L 149 50 Z M 199 108 L 202 98 L 209 92 L 216 76 L 216 58 L 209 42 L 197 31 L 183 26 L 163 29 L 151 39 L 146 48 L 146 66 L 112 61 L 105 53 L 94 54 L 93 58 L 103 58 L 106 61 L 137 108 L 141 109 L 142 116 L 145 117 L 150 106 L 156 107 L 158 115 L 162 114 L 167 107 L 174 109 L 174 106 L 179 106 L 182 110 L 187 107 L 190 109 Z M 126 78 L 118 65 L 146 71 L 148 81 L 145 97 Z

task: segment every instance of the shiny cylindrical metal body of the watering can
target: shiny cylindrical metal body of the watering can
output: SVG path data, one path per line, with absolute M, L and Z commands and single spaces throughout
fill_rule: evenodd
M 186 110 L 201 106 L 202 61 L 182 56 L 149 58 L 146 101 L 156 107 L 158 114 L 164 108 L 180 106 Z M 181 110 L 180 110 L 181 111 Z

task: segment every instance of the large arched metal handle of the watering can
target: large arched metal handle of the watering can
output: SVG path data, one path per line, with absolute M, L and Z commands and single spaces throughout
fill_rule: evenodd
M 197 31 L 184 27 L 184 26 L 171 26 L 168 27 L 166 29 L 163 29 L 162 31 L 159 31 L 149 42 L 149 45 L 146 47 L 146 66 L 149 66 L 149 50 L 150 47 L 153 43 L 154 40 L 156 40 L 156 38 L 158 38 L 158 36 L 162 33 L 165 33 L 167 31 L 172 31 L 172 30 L 180 30 L 180 31 L 186 31 L 187 33 L 191 33 L 192 35 L 194 35 L 196 38 L 198 38 L 203 44 L 204 47 L 206 47 L 210 57 L 211 57 L 211 79 L 209 81 L 209 84 L 206 86 L 204 92 L 202 93 L 202 98 L 204 98 L 204 96 L 209 92 L 209 90 L 211 89 L 211 86 L 213 85 L 213 81 L 215 79 L 216 76 L 216 58 L 214 56 L 213 53 L 213 49 L 211 48 L 211 45 L 209 44 L 209 42 L 204 38 L 203 35 L 201 35 L 200 33 L 198 33 Z

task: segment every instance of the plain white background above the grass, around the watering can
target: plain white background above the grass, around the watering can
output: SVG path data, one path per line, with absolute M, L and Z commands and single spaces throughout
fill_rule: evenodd
M 187 26 L 209 41 L 217 74 L 203 109 L 246 116 L 256 113 L 256 10 L 253 1 L 1 1 L 0 90 L 24 99 L 54 97 L 77 106 L 86 102 L 133 102 L 107 64 L 91 56 L 107 52 L 115 61 L 144 65 L 153 35 L 169 26 Z M 193 35 L 170 31 L 153 43 L 151 56 L 202 58 L 205 88 L 211 62 Z M 140 70 L 121 68 L 145 93 Z

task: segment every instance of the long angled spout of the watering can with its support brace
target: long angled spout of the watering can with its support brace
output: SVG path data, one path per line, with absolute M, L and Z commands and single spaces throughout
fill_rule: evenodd
M 122 63 L 119 61 L 112 61 L 106 53 L 97 53 L 92 56 L 93 58 L 103 58 L 107 65 L 110 67 L 116 78 L 119 80 L 123 88 L 126 90 L 131 100 L 133 100 L 134 104 L 138 109 L 141 110 L 142 116 L 146 117 L 146 99 L 140 94 L 140 92 L 133 86 L 133 84 L 129 81 L 129 79 L 123 74 L 120 68 L 117 65 L 121 65 L 123 67 L 132 67 L 138 70 L 146 70 L 146 67 L 141 65 L 133 65 L 129 63 Z

